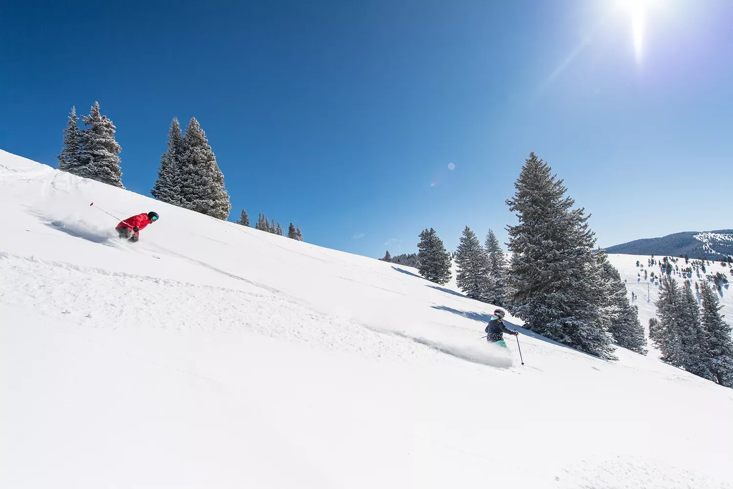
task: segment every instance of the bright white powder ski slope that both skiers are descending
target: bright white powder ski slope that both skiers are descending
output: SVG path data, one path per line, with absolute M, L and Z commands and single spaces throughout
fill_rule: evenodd
M 656 359 L 7 152 L 0 206 L 2 488 L 733 487 L 733 389 Z

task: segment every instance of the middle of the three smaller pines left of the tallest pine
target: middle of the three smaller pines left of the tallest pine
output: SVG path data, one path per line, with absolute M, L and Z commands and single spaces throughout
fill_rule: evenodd
M 456 283 L 465 295 L 481 301 L 488 287 L 489 258 L 479 238 L 466 226 L 456 252 Z

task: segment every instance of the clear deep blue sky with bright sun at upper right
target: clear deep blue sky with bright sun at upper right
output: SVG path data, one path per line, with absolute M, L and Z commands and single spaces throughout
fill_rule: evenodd
M 0 148 L 55 167 L 70 106 L 98 100 L 148 194 L 172 117 L 196 117 L 230 220 L 372 257 L 424 227 L 506 241 L 530 151 L 601 246 L 720 229 L 731 19 L 729 0 L 4 1 Z

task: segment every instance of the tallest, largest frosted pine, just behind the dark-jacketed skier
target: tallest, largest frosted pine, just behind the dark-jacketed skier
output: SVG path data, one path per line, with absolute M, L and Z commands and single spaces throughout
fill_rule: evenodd
M 507 308 L 532 331 L 604 359 L 615 359 L 601 320 L 605 304 L 600 268 L 594 259 L 593 232 L 585 210 L 572 209 L 567 188 L 550 166 L 531 152 L 507 199 L 519 224 L 507 227 Z

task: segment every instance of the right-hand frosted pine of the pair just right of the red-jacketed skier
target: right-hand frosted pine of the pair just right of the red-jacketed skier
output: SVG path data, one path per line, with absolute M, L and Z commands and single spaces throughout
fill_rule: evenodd
M 226 220 L 232 205 L 224 190 L 224 175 L 216 164 L 206 134 L 196 117 L 185 130 L 185 154 L 181 167 L 181 207 Z

